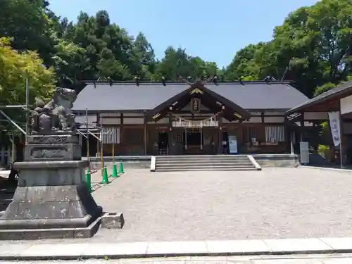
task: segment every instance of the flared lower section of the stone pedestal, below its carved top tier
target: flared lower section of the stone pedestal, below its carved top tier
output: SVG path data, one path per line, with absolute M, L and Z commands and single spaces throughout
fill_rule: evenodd
M 15 163 L 20 170 L 0 230 L 88 227 L 102 213 L 84 182 L 88 161 Z

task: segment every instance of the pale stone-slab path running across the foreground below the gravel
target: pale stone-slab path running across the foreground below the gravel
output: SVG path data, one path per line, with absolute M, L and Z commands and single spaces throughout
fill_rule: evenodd
M 352 253 L 351 238 L 257 239 L 234 241 L 172 241 L 135 243 L 2 244 L 0 260 L 77 260 L 89 258 L 165 258 L 176 256 L 260 256 Z M 291 258 L 289 256 L 289 258 Z M 352 255 L 351 255 L 352 256 Z M 309 257 L 309 256 L 307 256 Z M 287 257 L 285 257 L 287 258 Z M 309 257 L 311 258 L 311 256 Z

